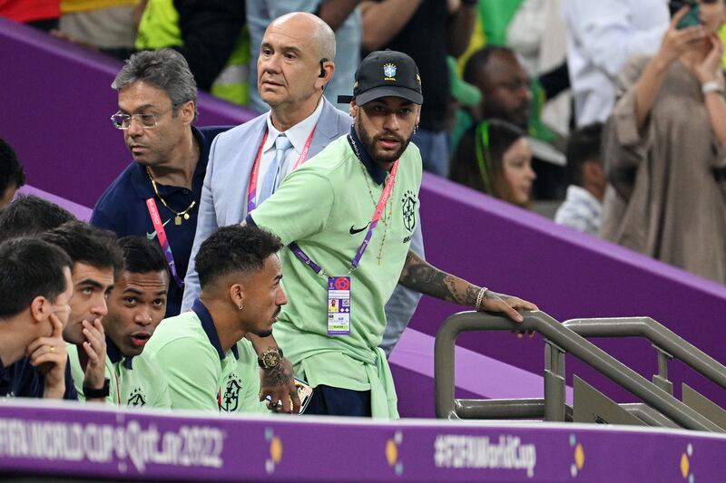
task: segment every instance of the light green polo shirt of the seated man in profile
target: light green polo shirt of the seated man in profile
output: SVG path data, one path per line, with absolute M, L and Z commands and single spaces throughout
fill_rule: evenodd
M 260 372 L 251 343 L 237 343 L 240 359 L 223 359 L 193 311 L 164 319 L 146 345 L 169 381 L 172 409 L 269 412 L 260 402 Z M 218 402 L 221 398 L 221 408 Z

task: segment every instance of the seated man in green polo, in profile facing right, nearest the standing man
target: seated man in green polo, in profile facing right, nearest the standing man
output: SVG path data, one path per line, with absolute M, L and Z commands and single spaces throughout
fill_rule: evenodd
M 245 334 L 269 336 L 287 304 L 281 247 L 277 237 L 239 226 L 223 227 L 201 244 L 199 298 L 189 312 L 162 321 L 145 352 L 167 376 L 172 409 L 267 411 L 258 362 L 280 375 L 285 368 L 279 356 L 258 360 Z

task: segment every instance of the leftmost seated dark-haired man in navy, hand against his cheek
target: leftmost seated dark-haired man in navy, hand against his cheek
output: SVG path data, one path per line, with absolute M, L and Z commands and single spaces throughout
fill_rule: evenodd
M 30 238 L 0 244 L 0 396 L 69 394 L 61 333 L 73 293 L 71 260 L 63 250 Z

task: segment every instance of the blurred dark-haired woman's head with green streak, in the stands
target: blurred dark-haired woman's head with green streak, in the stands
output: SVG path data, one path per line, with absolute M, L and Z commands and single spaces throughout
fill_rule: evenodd
M 532 149 L 524 130 L 501 120 L 482 121 L 462 140 L 451 179 L 522 208 L 532 201 Z

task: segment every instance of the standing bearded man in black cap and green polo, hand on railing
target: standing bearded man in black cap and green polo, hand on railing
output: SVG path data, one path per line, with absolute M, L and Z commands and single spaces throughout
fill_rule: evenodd
M 289 304 L 273 332 L 315 388 L 306 413 L 397 418 L 397 397 L 378 344 L 384 304 L 400 281 L 477 309 L 535 309 L 429 266 L 409 251 L 416 228 L 421 157 L 409 144 L 423 95 L 405 53 L 370 53 L 350 101 L 354 124 L 293 171 L 247 217 L 286 246 Z

